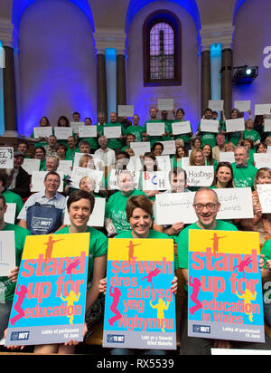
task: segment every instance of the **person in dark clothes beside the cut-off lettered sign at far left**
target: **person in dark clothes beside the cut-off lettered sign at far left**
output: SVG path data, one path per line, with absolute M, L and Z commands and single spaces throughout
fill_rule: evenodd
M 30 196 L 30 175 L 24 171 L 22 165 L 25 155 L 21 151 L 14 151 L 14 168 L 6 170 L 8 174 L 8 189 L 21 196 L 27 198 Z

